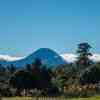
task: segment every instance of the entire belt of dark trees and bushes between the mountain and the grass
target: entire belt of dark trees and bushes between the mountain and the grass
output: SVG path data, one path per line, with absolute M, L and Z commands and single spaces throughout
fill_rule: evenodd
M 90 49 L 88 43 L 78 44 L 77 61 L 54 66 L 54 69 L 42 64 L 39 58 L 23 69 L 0 65 L 0 95 L 68 98 L 99 95 L 100 63 L 89 59 L 92 55 Z

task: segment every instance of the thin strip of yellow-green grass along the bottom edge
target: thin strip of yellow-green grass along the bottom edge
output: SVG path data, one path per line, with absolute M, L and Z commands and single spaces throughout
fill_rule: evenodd
M 89 98 L 46 98 L 46 97 L 39 97 L 39 98 L 32 98 L 32 97 L 9 97 L 9 98 L 2 98 L 1 100 L 100 100 L 100 96 L 94 96 Z

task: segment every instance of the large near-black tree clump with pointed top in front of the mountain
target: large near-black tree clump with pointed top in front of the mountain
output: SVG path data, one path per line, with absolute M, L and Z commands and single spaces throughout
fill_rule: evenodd
M 27 65 L 25 70 L 16 71 L 11 77 L 9 84 L 16 88 L 45 89 L 51 86 L 51 76 L 49 71 L 40 67 L 41 61 L 36 60 L 31 65 Z

